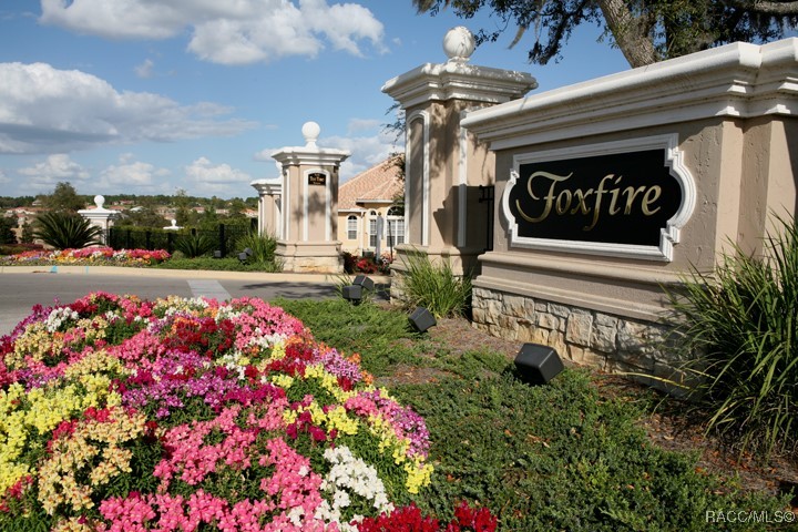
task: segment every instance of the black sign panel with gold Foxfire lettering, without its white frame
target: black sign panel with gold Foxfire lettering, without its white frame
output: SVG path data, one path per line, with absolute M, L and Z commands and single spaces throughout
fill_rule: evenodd
M 519 237 L 658 246 L 682 204 L 665 150 L 521 164 L 509 209 Z

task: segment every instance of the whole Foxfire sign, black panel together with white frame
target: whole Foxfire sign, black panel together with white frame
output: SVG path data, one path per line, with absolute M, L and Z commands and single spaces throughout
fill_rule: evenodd
M 516 157 L 503 198 L 512 244 L 671 260 L 693 203 L 685 197 L 689 174 L 674 167 L 678 152 L 669 145 L 607 151 Z

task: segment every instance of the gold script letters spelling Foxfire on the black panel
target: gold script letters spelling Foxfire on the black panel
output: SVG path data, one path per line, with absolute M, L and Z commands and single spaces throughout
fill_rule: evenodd
M 564 183 L 572 175 L 573 172 L 567 175 L 557 175 L 542 171 L 530 175 L 530 178 L 526 182 L 526 193 L 530 197 L 532 197 L 532 200 L 545 200 L 545 206 L 543 207 L 543 213 L 541 213 L 540 216 L 530 216 L 521 208 L 521 201 L 515 200 L 515 208 L 518 208 L 521 217 L 526 222 L 536 224 L 546 219 L 549 215 L 552 214 L 552 211 L 556 212 L 557 215 L 573 215 L 576 213 L 589 215 L 592 213 L 593 218 L 591 224 L 582 227 L 582 231 L 592 231 L 601 217 L 602 200 L 605 195 L 608 196 L 610 201 L 610 206 L 607 207 L 610 216 L 618 214 L 621 208 L 623 208 L 623 214 L 631 214 L 637 197 L 640 197 L 640 208 L 645 216 L 652 216 L 659 211 L 658 206 L 653 208 L 654 204 L 662 195 L 662 187 L 659 185 L 637 187 L 627 186 L 625 188 L 622 186 L 613 187 L 613 185 L 621 185 L 623 175 L 615 176 L 615 174 L 607 174 L 602 177 L 595 190 L 587 188 L 587 191 L 583 191 L 582 188 L 576 188 L 575 191 L 571 191 L 569 188 L 562 188 L 557 192 L 557 183 Z M 542 198 L 538 197 L 532 191 L 532 182 L 538 177 L 551 181 L 551 185 L 549 185 L 549 193 Z

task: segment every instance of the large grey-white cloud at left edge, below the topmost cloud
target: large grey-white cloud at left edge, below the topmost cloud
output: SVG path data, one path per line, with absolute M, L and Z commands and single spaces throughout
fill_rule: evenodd
M 180 105 L 146 92 L 117 92 L 76 70 L 0 63 L 0 153 L 63 153 L 102 144 L 234 135 L 248 121 L 219 117 L 213 103 Z

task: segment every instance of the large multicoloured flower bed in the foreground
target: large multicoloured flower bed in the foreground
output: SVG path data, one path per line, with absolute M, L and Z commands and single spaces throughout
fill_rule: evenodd
M 0 338 L 0 529 L 494 530 L 430 482 L 422 418 L 255 298 L 90 294 Z

